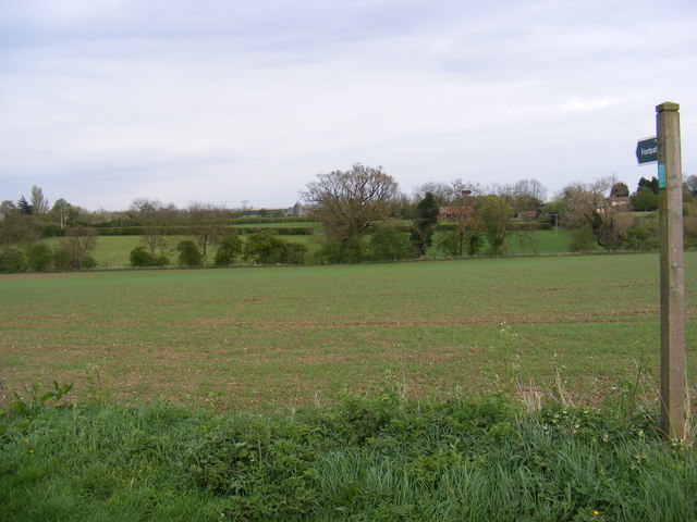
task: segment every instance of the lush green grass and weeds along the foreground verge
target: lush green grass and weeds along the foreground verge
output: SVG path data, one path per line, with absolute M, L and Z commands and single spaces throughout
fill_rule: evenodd
M 37 409 L 3 418 L 0 520 L 695 520 L 695 450 L 656 426 L 392 391 L 267 417 Z

